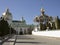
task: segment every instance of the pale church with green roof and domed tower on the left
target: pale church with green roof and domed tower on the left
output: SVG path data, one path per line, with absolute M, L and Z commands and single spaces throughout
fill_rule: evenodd
M 2 14 L 2 18 L 9 23 L 9 26 L 12 27 L 19 34 L 22 32 L 23 34 L 28 34 L 30 30 L 28 30 L 31 25 L 27 25 L 26 21 L 22 17 L 22 20 L 13 20 L 12 13 L 10 13 L 9 9 Z M 33 26 L 32 26 L 33 27 Z

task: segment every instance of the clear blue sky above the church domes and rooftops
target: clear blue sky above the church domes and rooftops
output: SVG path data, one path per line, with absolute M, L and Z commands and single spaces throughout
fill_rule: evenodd
M 9 8 L 13 20 L 24 17 L 27 24 L 33 24 L 34 17 L 40 16 L 42 7 L 48 16 L 60 17 L 60 0 L 0 0 L 0 17 Z

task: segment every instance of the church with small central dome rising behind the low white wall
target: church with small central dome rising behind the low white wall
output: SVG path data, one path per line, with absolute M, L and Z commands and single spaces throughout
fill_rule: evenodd
M 44 8 L 41 8 L 40 16 L 34 18 L 35 22 L 38 22 L 40 30 L 57 29 L 57 17 L 48 16 L 45 14 Z

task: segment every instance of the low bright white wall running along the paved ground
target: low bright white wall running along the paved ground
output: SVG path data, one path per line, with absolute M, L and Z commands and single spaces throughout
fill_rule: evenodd
M 52 31 L 32 31 L 32 35 L 40 35 L 40 36 L 49 36 L 49 37 L 60 37 L 60 30 L 52 30 Z

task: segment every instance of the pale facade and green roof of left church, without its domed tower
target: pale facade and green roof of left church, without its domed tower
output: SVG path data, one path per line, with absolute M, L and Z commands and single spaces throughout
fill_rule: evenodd
M 12 22 L 12 27 L 18 32 L 18 34 L 21 32 L 21 30 L 23 34 L 28 34 L 28 28 L 30 26 L 24 23 Z

